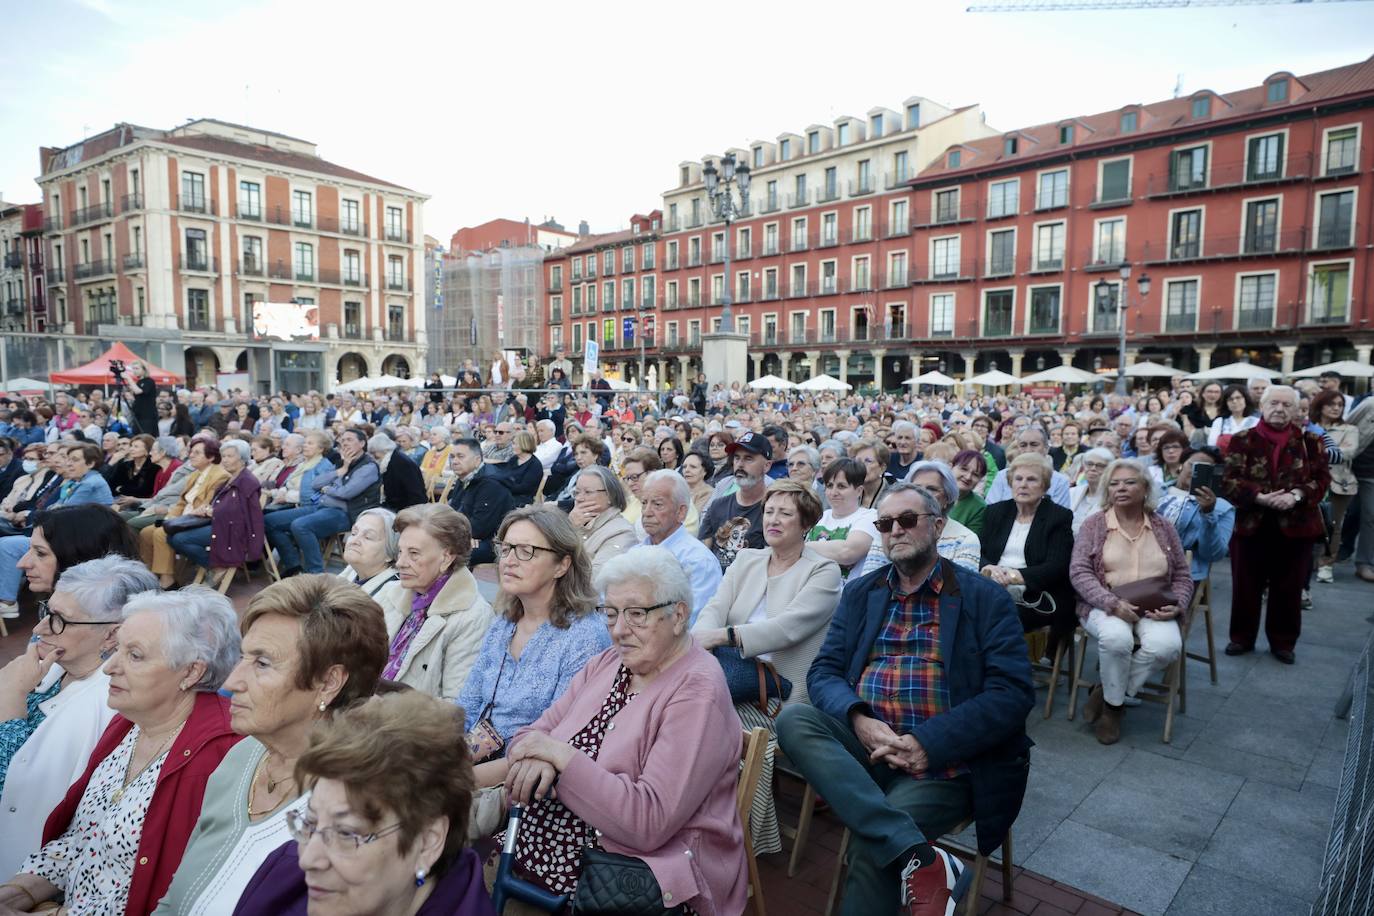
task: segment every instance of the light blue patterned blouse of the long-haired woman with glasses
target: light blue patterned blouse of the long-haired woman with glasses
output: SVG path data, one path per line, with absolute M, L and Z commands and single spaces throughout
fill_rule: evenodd
M 514 623 L 504 617 L 496 618 L 458 695 L 469 729 L 477 725 L 495 696 L 489 717 L 507 742 L 543 715 L 589 659 L 610 648 L 610 630 L 595 611 L 573 619 L 566 630 L 544 623 L 525 643 L 519 659 L 508 652 L 514 634 Z

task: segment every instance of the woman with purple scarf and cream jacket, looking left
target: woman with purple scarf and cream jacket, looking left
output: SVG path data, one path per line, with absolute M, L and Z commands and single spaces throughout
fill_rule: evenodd
M 467 570 L 473 526 L 444 503 L 412 505 L 396 516 L 396 571 L 403 591 L 387 596 L 390 641 L 383 677 L 456 699 L 492 625 L 492 606 Z

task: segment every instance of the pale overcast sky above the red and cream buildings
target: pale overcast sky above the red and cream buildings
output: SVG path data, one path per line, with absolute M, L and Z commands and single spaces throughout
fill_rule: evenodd
M 610 231 L 658 206 L 682 159 L 911 95 L 1011 129 L 1374 51 L 1371 3 L 966 5 L 11 1 L 0 195 L 38 199 L 40 146 L 209 117 L 431 195 L 425 228 L 445 243 L 493 217 Z

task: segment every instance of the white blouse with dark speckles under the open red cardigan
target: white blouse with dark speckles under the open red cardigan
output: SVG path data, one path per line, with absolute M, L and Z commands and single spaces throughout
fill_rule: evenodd
M 133 726 L 95 768 L 71 825 L 19 868 L 62 889 L 70 916 L 122 916 L 143 838 L 143 818 L 158 787 L 166 751 L 124 794 L 125 769 L 142 729 Z

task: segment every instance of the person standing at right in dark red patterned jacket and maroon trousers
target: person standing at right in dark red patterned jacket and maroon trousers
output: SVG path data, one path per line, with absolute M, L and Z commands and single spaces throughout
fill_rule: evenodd
M 1254 650 L 1260 602 L 1268 589 L 1264 636 L 1270 652 L 1285 665 L 1294 662 L 1312 544 L 1326 536 L 1319 503 L 1331 482 L 1322 439 L 1294 426 L 1296 417 L 1297 391 L 1268 386 L 1259 424 L 1231 438 L 1221 475 L 1221 496 L 1235 505 L 1226 654 Z

